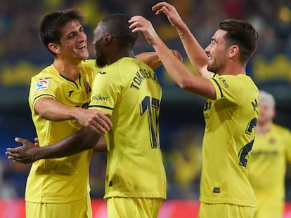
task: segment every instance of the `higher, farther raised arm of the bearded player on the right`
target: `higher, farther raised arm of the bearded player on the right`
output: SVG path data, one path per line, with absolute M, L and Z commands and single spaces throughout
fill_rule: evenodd
M 183 22 L 179 13 L 176 11 L 176 8 L 167 2 L 160 2 L 153 6 L 152 10 L 156 11 L 156 15 L 161 13 L 167 15 L 169 22 L 171 22 L 171 24 L 176 28 L 176 31 L 179 34 L 191 64 L 193 64 L 193 67 L 197 69 L 200 76 L 209 78 L 211 72 L 207 70 L 207 54 L 190 32 L 186 23 Z

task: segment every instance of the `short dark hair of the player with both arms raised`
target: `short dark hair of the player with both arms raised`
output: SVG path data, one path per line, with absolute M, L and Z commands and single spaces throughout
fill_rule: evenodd
M 226 31 L 228 46 L 237 45 L 240 48 L 240 62 L 247 62 L 257 50 L 258 32 L 250 22 L 228 19 L 219 24 L 219 29 Z

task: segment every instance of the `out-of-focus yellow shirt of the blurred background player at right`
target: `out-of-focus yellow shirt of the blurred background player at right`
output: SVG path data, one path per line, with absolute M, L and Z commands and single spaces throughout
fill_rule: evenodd
M 291 163 L 291 132 L 273 124 L 264 135 L 257 135 L 247 163 L 250 183 L 257 197 L 256 210 L 272 217 L 273 210 L 282 215 L 285 203 L 286 163 Z M 271 211 L 270 211 L 271 210 Z M 274 216 L 273 216 L 274 217 Z

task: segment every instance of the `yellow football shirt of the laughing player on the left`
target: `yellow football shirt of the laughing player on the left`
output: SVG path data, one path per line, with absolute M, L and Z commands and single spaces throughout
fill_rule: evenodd
M 87 108 L 91 83 L 96 74 L 93 66 L 93 60 L 83 61 L 77 81 L 61 76 L 53 65 L 32 77 L 29 103 L 40 147 L 60 141 L 82 128 L 82 125 L 76 120 L 54 122 L 41 118 L 34 111 L 34 103 L 41 97 L 52 97 L 72 107 Z M 85 198 L 89 191 L 91 154 L 89 150 L 33 163 L 27 178 L 25 199 L 33 203 L 66 203 Z

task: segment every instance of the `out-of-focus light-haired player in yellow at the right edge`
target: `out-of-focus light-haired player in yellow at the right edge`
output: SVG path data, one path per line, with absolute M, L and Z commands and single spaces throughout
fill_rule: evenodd
M 261 102 L 256 139 L 247 162 L 250 183 L 257 198 L 254 218 L 281 218 L 285 205 L 285 173 L 291 163 L 291 132 L 273 123 L 276 100 L 259 91 Z

